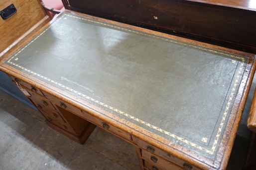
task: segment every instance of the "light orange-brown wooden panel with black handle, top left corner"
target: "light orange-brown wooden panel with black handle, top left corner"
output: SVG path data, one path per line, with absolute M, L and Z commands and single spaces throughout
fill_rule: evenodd
M 0 53 L 46 16 L 37 0 L 1 0 L 0 10 L 11 3 L 17 12 L 5 20 L 0 18 Z

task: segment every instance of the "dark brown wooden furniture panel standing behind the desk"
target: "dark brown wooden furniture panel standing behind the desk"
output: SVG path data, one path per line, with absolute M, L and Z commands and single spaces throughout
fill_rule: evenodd
M 64 1 L 70 10 L 256 52 L 256 7 L 249 0 Z

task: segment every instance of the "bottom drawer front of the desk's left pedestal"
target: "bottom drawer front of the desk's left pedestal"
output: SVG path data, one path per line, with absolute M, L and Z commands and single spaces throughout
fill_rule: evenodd
M 52 124 L 62 128 L 63 130 L 76 135 L 75 131 L 72 129 L 72 127 L 70 127 L 70 125 L 64 121 L 59 121 L 58 119 L 55 118 L 55 116 L 51 115 L 50 113 L 44 112 L 44 111 L 40 111 L 44 117 L 51 122 Z

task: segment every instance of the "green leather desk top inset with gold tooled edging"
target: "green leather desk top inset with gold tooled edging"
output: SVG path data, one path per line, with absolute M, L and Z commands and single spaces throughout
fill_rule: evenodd
M 70 13 L 5 61 L 209 159 L 247 62 Z

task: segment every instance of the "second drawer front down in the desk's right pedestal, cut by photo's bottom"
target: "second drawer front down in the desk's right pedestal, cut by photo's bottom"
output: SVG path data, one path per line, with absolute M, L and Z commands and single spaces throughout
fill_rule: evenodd
M 146 165 L 145 165 L 145 167 L 148 168 L 149 170 L 154 170 L 153 165 L 155 165 L 155 168 L 159 167 L 163 170 L 184 170 L 183 168 L 181 168 L 181 167 L 179 167 L 179 166 L 177 166 L 177 165 L 175 165 L 157 155 L 151 154 L 150 152 L 143 150 L 143 149 L 141 150 L 141 156 L 142 156 L 142 159 L 144 159 L 145 161 L 148 161 L 151 164 L 151 166 L 149 166 L 149 167 L 146 167 Z M 192 170 L 192 168 L 190 170 Z

